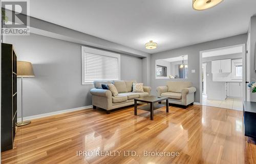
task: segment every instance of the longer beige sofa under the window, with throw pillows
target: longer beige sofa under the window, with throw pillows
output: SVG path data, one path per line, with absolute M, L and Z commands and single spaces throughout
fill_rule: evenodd
M 113 97 L 112 92 L 102 89 L 101 84 L 113 83 L 118 91 L 118 96 Z M 93 108 L 100 107 L 110 113 L 110 110 L 134 104 L 134 99 L 150 95 L 151 87 L 144 86 L 144 92 L 132 92 L 132 85 L 136 81 L 94 81 L 91 89 Z

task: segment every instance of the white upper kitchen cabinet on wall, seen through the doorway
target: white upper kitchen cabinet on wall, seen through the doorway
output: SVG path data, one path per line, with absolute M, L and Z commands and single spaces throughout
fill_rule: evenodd
M 231 73 L 231 59 L 211 61 L 211 73 Z

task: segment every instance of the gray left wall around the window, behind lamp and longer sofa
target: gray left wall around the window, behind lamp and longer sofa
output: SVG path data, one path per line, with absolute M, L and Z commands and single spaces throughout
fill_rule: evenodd
M 36 34 L 4 36 L 4 42 L 14 44 L 18 60 L 33 63 L 35 77 L 23 83 L 24 116 L 91 105 L 93 85 L 81 85 L 80 44 Z M 121 55 L 121 79 L 141 82 L 142 59 Z M 19 112 L 20 78 L 17 85 Z

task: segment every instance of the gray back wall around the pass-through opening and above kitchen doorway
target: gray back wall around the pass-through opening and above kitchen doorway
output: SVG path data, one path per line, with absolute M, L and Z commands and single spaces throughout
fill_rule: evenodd
M 161 53 L 152 54 L 151 56 L 151 86 L 152 86 L 152 94 L 156 95 L 156 88 L 157 86 L 166 85 L 166 82 L 170 79 L 155 79 L 155 60 L 157 59 L 165 59 L 165 58 L 172 58 L 178 57 L 181 55 L 188 55 L 188 78 L 187 79 L 172 79 L 173 81 L 191 81 L 193 85 L 197 88 L 197 92 L 195 95 L 195 102 L 200 102 L 200 61 L 199 61 L 199 52 L 210 50 L 210 49 L 217 49 L 222 48 L 225 46 L 231 45 L 238 45 L 238 44 L 246 44 L 247 35 L 237 35 L 228 38 L 223 38 L 214 41 L 208 41 L 200 44 L 194 44 L 185 46 L 183 48 L 178 48 L 174 50 L 169 50 Z M 191 73 L 191 70 L 195 69 L 196 73 Z

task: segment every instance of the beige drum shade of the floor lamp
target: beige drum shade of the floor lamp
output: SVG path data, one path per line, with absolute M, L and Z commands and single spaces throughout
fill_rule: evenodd
M 34 71 L 31 62 L 17 61 L 17 77 L 34 77 Z

